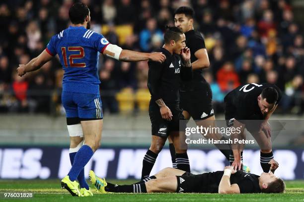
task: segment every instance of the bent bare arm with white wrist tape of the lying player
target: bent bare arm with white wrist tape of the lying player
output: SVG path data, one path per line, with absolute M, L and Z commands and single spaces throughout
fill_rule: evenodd
M 224 175 L 219 184 L 219 194 L 239 194 L 240 190 L 237 184 L 230 184 L 230 175 L 236 173 L 232 166 L 224 168 Z

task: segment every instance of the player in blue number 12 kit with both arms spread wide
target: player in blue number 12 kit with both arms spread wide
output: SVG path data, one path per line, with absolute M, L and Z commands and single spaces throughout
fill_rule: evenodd
M 72 168 L 61 181 L 73 196 L 92 196 L 84 178 L 84 166 L 99 148 L 102 131 L 102 108 L 99 95 L 99 52 L 120 61 L 152 60 L 163 62 L 161 52 L 142 53 L 122 50 L 90 28 L 90 11 L 84 3 L 69 10 L 72 26 L 54 35 L 47 48 L 27 64 L 17 68 L 19 76 L 39 69 L 56 54 L 65 71 L 62 103 L 67 114 Z M 80 183 L 80 190 L 78 183 Z

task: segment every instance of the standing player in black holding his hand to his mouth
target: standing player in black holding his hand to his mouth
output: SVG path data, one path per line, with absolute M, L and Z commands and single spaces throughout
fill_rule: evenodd
M 164 46 L 157 52 L 166 56 L 165 61 L 148 62 L 152 143 L 143 160 L 142 179 L 149 177 L 156 157 L 169 135 L 177 148 L 176 155 L 187 157 L 183 167 L 179 168 L 190 171 L 186 150 L 179 150 L 179 120 L 184 119 L 179 106 L 179 88 L 181 79 L 192 79 L 190 50 L 186 48 L 185 35 L 177 27 L 169 27 L 166 30 L 164 42 Z

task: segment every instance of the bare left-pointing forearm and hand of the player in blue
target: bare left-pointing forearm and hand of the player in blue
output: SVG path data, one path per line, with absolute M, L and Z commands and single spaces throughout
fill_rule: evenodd
M 50 61 L 53 58 L 46 50 L 43 50 L 40 55 L 33 58 L 27 64 L 19 64 L 17 72 L 19 76 L 25 75 L 27 72 L 35 71 L 42 67 L 46 62 Z

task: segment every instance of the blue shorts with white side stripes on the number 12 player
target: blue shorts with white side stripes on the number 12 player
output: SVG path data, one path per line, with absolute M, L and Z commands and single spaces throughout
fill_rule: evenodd
M 103 118 L 100 95 L 62 92 L 61 99 L 67 118 Z

